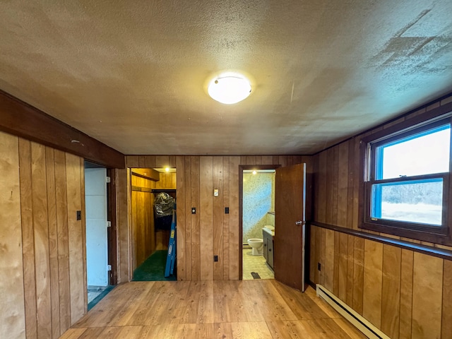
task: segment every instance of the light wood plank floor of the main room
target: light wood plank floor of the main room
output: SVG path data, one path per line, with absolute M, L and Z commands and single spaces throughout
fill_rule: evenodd
M 275 280 L 119 285 L 61 336 L 82 338 L 366 338 L 309 287 Z

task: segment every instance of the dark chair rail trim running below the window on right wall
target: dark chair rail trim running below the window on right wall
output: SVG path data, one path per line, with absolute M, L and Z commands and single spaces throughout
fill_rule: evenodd
M 438 258 L 443 258 L 443 259 L 452 261 L 452 251 L 448 251 L 447 249 L 439 249 L 439 248 L 432 247 L 432 246 L 415 244 L 412 242 L 405 242 L 405 241 L 399 240 L 399 239 L 383 237 L 382 235 L 371 234 L 371 233 L 357 231 L 357 230 L 350 230 L 349 228 L 345 228 L 345 227 L 324 224 L 323 222 L 313 221 L 313 222 L 311 222 L 311 225 L 326 228 L 328 230 L 333 230 L 333 231 L 340 232 L 340 233 L 354 235 L 355 237 L 360 237 L 363 239 L 373 240 L 374 242 L 381 242 L 382 244 L 388 244 L 388 245 L 400 247 L 402 249 L 409 249 L 411 251 L 416 251 L 416 252 L 420 252 L 423 254 L 427 254 L 429 256 L 436 256 Z

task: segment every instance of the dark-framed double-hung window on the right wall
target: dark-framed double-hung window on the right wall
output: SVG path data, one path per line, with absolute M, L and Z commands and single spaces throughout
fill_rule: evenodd
M 362 139 L 362 228 L 438 242 L 448 235 L 451 119 Z

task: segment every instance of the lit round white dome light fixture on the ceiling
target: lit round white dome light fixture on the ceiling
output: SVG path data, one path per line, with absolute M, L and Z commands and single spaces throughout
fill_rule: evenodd
M 251 83 L 242 74 L 222 73 L 210 81 L 208 93 L 213 100 L 232 105 L 250 95 Z

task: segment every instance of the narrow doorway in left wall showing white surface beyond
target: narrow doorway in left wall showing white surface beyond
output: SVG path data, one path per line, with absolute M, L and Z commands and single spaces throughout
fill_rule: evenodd
M 112 279 L 109 246 L 107 169 L 85 161 L 85 232 L 88 310 L 116 284 Z

